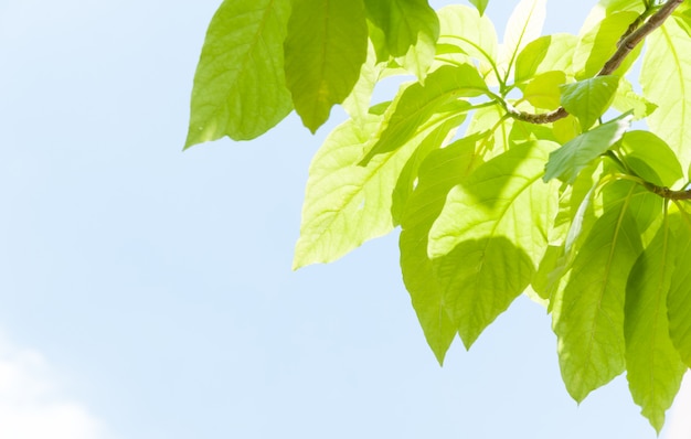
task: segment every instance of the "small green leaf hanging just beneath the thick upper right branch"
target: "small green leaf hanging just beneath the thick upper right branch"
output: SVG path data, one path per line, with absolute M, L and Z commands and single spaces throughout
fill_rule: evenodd
M 587 130 L 605 114 L 614 100 L 619 78 L 617 76 L 596 76 L 562 86 L 562 106 L 581 121 L 581 128 Z

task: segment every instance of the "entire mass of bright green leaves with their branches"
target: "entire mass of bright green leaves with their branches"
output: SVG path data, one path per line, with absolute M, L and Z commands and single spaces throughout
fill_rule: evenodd
M 342 105 L 295 268 L 400 227 L 439 363 L 525 293 L 551 312 L 567 392 L 626 371 L 659 431 L 691 366 L 691 7 L 600 0 L 578 35 L 541 35 L 545 2 L 520 1 L 499 44 L 488 1 L 225 0 L 185 148 L 255 138 L 291 109 L 315 131 Z M 371 105 L 395 75 L 413 79 Z

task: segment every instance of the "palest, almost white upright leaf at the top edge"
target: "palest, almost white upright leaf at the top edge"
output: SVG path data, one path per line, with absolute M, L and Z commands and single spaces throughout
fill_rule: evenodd
M 513 9 L 503 32 L 501 65 L 504 79 L 510 77 L 518 54 L 542 33 L 545 15 L 546 0 L 521 0 Z

